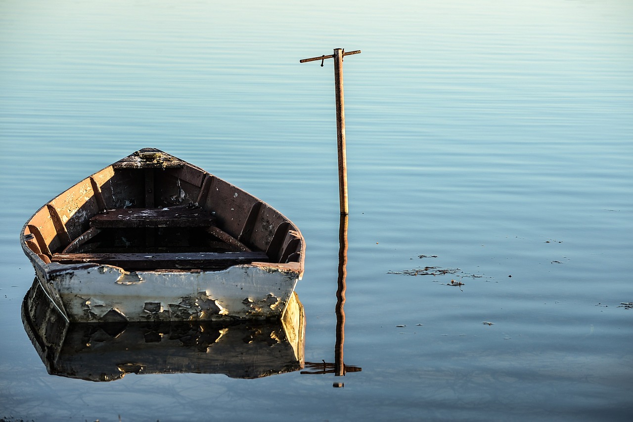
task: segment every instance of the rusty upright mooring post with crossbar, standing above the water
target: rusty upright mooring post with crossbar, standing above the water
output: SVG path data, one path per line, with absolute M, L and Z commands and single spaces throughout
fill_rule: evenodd
M 341 208 L 341 214 L 349 214 L 348 208 L 348 164 L 347 153 L 345 147 L 345 101 L 343 96 L 343 57 L 351 54 L 358 54 L 360 50 L 348 51 L 344 49 L 335 48 L 334 54 L 330 56 L 312 57 L 309 59 L 299 60 L 299 63 L 306 63 L 307 61 L 323 61 L 325 59 L 334 58 L 334 90 L 336 99 L 336 137 L 337 137 L 337 149 L 339 155 L 339 203 Z

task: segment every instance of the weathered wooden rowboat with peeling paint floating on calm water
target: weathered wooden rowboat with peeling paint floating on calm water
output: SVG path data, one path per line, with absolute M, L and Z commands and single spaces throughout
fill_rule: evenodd
M 77 322 L 279 318 L 305 252 L 279 211 L 153 148 L 44 204 L 21 243 Z

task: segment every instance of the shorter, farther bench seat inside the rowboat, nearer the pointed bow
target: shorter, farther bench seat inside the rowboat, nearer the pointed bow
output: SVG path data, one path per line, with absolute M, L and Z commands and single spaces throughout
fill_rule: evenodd
M 209 227 L 215 217 L 201 208 L 120 208 L 91 218 L 92 227 Z

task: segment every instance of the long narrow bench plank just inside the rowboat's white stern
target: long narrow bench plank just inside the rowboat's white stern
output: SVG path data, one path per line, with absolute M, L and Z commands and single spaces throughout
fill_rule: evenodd
M 60 264 L 109 264 L 122 268 L 153 270 L 159 268 L 228 268 L 237 264 L 267 262 L 264 252 L 187 252 L 156 254 L 54 254 L 51 261 Z

